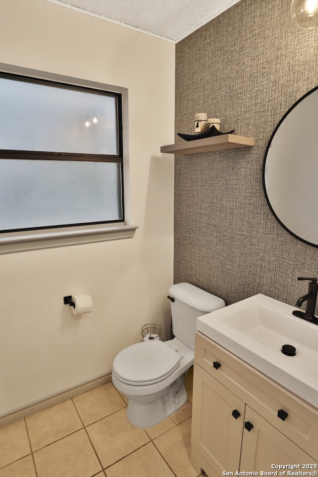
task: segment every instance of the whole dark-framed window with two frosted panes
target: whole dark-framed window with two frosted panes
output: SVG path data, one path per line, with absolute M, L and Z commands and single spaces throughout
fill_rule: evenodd
M 101 86 L 0 74 L 0 244 L 125 225 L 122 93 Z

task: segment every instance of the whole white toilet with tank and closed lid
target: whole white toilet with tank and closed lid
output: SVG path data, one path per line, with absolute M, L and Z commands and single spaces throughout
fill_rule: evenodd
M 114 359 L 112 382 L 128 398 L 127 418 L 136 427 L 152 427 L 187 400 L 184 378 L 193 364 L 196 318 L 225 307 L 190 283 L 169 288 L 173 339 L 132 344 Z

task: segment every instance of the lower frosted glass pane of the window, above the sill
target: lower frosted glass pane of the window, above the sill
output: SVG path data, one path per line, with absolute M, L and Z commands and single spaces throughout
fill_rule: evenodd
M 118 162 L 0 159 L 0 230 L 123 219 Z

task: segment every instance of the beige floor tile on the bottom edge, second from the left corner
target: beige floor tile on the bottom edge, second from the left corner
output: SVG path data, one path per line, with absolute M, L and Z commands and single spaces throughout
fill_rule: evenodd
M 38 477 L 90 477 L 101 471 L 84 429 L 34 453 Z

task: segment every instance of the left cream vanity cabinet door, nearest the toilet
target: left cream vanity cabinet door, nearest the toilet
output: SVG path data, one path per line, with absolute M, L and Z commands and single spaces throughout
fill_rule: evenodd
M 192 445 L 219 476 L 239 469 L 244 409 L 243 401 L 194 365 Z

